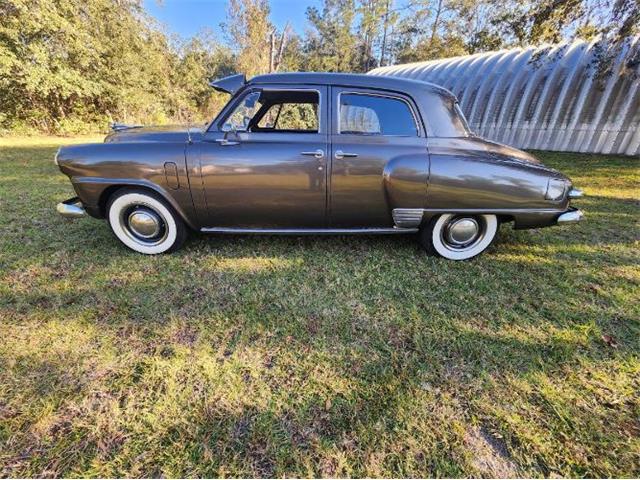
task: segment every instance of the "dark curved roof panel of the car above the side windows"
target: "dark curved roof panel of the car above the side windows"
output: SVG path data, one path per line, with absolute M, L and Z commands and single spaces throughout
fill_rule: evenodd
M 408 93 L 431 92 L 437 95 L 454 95 L 438 85 L 420 80 L 410 80 L 393 76 L 363 75 L 357 73 L 269 73 L 258 75 L 247 82 L 247 85 L 307 84 L 307 85 L 336 85 L 346 87 L 379 88 Z

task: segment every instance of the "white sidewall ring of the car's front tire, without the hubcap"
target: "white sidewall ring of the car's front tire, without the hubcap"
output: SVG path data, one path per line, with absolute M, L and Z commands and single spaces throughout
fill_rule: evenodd
M 167 235 L 162 242 L 155 245 L 144 245 L 143 242 L 137 242 L 127 234 L 120 223 L 120 215 L 124 209 L 129 208 L 132 205 L 145 205 L 155 210 L 163 217 L 165 228 L 167 229 Z M 113 199 L 109 202 L 107 219 L 111 230 L 114 235 L 118 237 L 118 240 L 124 243 L 131 250 L 145 255 L 157 255 L 170 251 L 177 245 L 178 240 L 181 237 L 181 227 L 184 228 L 180 223 L 181 219 L 176 217 L 165 202 L 159 200 L 155 195 L 142 191 L 129 190 L 115 194 Z

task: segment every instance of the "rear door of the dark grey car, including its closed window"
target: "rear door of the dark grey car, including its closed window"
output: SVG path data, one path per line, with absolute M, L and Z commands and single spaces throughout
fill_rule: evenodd
M 428 169 L 418 110 L 405 95 L 363 88 L 332 87 L 331 102 L 330 226 L 392 227 L 392 208 L 415 205 L 390 204 L 387 174 L 408 158 Z

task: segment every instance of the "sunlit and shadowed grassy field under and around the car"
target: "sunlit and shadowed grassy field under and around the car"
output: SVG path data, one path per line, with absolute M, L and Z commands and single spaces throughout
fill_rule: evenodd
M 0 140 L 0 476 L 640 476 L 638 159 L 540 153 L 588 220 L 470 262 L 145 257 L 55 214 L 60 143 Z

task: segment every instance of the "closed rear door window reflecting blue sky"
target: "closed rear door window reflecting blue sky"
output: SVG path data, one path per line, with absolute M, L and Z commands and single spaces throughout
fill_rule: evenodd
M 415 137 L 418 126 L 403 100 L 348 93 L 340 95 L 339 133 Z

